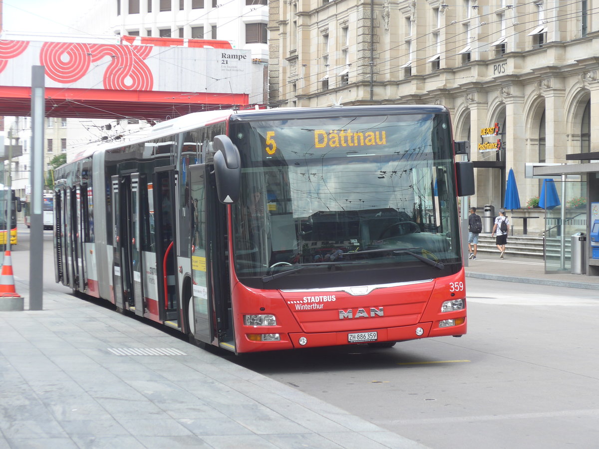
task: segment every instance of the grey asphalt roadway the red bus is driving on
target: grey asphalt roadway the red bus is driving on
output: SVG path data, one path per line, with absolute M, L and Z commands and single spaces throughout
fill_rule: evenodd
M 29 232 L 12 248 L 29 278 Z M 467 280 L 468 334 L 225 355 L 431 448 L 597 447 L 599 292 Z M 44 291 L 54 283 L 44 231 Z M 201 349 L 197 349 L 198 351 Z

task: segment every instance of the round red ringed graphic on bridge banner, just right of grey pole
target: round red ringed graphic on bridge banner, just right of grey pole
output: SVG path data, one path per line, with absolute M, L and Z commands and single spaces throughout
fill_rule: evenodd
M 91 61 L 87 44 L 46 42 L 40 50 L 40 63 L 46 67 L 46 75 L 57 83 L 80 80 L 89 70 Z

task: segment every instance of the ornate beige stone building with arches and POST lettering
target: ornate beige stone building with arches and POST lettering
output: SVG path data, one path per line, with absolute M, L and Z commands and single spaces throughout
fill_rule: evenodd
M 455 139 L 471 142 L 473 205 L 501 207 L 513 168 L 526 207 L 541 182 L 526 163 L 599 149 L 599 0 L 269 5 L 271 107 L 446 105 Z

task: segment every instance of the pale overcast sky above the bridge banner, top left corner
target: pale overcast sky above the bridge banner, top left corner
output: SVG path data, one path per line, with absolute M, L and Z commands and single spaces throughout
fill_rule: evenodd
M 2 29 L 10 32 L 84 34 L 71 27 L 95 0 L 1 0 Z

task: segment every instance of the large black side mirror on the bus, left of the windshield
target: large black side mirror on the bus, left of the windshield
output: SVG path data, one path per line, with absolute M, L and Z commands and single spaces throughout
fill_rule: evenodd
M 223 204 L 239 200 L 241 190 L 241 157 L 229 136 L 214 136 L 214 175 L 216 192 Z

